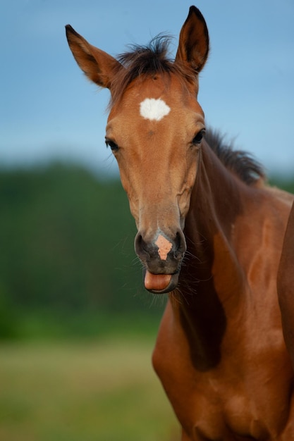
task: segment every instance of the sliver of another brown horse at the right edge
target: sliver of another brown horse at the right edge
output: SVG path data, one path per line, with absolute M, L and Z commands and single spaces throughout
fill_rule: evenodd
M 283 333 L 294 368 L 294 205 L 290 211 L 278 268 L 278 301 Z

